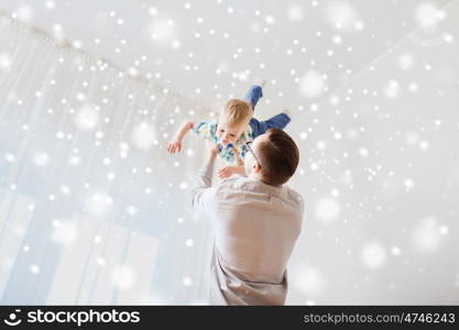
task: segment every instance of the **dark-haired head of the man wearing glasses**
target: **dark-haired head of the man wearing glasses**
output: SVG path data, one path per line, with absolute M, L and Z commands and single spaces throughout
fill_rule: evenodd
M 285 184 L 295 173 L 299 152 L 293 139 L 282 130 L 271 129 L 250 144 L 245 173 L 271 186 Z

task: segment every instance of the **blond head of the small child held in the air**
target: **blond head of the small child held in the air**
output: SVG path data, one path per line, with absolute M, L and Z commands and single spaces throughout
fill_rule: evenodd
M 221 143 L 234 143 L 245 131 L 252 118 L 251 106 L 242 100 L 231 99 L 220 112 L 216 135 Z

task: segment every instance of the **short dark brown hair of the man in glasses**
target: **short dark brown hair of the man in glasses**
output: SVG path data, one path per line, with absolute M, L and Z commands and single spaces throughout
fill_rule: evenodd
M 293 139 L 282 130 L 270 129 L 256 147 L 262 182 L 272 186 L 285 184 L 295 173 L 299 152 Z

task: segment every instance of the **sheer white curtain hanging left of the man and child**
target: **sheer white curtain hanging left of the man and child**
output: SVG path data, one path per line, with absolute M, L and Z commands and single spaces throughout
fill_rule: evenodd
M 1 19 L 2 304 L 198 304 L 201 152 L 164 144 L 205 109 Z M 207 270 L 207 268 L 206 268 Z

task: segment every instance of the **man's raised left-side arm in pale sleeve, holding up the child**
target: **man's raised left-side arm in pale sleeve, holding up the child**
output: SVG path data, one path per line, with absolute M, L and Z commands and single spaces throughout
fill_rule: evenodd
M 211 143 L 208 141 L 207 143 Z M 207 162 L 199 169 L 196 177 L 196 186 L 192 191 L 193 199 L 192 205 L 194 207 L 208 207 L 215 197 L 215 190 L 212 189 L 212 174 L 215 160 L 217 156 L 218 145 L 211 145 L 209 147 L 209 155 Z

